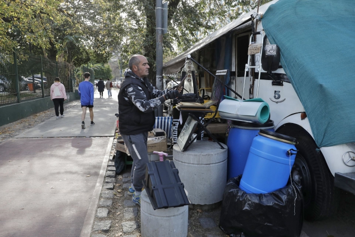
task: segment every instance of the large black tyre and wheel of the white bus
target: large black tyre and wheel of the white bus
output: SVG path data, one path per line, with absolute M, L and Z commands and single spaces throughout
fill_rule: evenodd
M 305 219 L 323 220 L 336 211 L 334 177 L 313 138 L 305 131 L 297 130 L 286 127 L 278 130 L 298 141 L 298 152 L 291 170 L 292 182 L 301 189 Z

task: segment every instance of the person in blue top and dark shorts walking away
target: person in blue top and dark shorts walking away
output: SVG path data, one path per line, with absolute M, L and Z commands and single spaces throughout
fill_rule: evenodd
M 84 81 L 79 83 L 78 92 L 80 95 L 80 103 L 81 103 L 81 128 L 85 128 L 85 115 L 86 115 L 86 108 L 89 108 L 90 112 L 90 125 L 94 125 L 94 85 L 89 81 L 90 80 L 90 73 L 84 73 Z

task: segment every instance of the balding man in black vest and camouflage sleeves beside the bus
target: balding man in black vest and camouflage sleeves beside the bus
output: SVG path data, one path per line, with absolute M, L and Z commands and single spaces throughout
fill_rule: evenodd
M 149 66 L 144 56 L 132 56 L 128 66 L 118 93 L 119 130 L 133 158 L 128 194 L 133 195 L 133 202 L 141 205 L 142 180 L 149 161 L 147 137 L 155 122 L 154 110 L 164 101 L 176 98 L 178 91 L 155 89 L 146 78 Z

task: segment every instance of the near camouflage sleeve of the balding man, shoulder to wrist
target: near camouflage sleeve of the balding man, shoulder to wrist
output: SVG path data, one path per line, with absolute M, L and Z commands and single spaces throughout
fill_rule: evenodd
M 152 112 L 158 108 L 163 102 L 164 98 L 154 98 L 147 100 L 143 89 L 135 84 L 127 85 L 125 88 L 125 99 L 130 100 L 140 111 Z

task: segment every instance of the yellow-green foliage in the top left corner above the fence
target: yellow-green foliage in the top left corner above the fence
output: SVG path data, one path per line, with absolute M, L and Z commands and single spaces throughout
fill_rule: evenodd
M 2 0 L 0 2 L 0 45 L 17 46 L 17 41 L 49 48 L 54 41 L 51 23 L 65 21 L 58 13 L 60 0 Z

